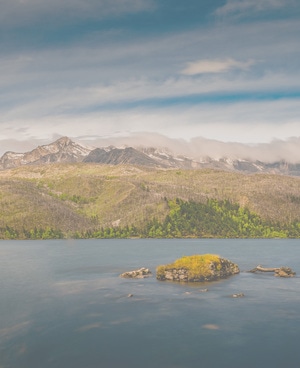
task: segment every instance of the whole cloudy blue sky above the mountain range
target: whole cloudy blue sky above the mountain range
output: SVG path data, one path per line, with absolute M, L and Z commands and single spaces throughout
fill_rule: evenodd
M 300 162 L 299 0 L 0 9 L 0 155 L 68 136 L 218 154 L 256 147 Z

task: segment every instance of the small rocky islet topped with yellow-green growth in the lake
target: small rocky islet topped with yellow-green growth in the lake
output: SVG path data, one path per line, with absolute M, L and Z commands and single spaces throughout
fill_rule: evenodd
M 240 272 L 237 264 L 215 254 L 196 254 L 158 266 L 156 278 L 161 281 L 204 282 L 225 279 Z

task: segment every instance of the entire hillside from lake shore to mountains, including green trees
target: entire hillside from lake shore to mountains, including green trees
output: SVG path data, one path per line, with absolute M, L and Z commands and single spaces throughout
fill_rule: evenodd
M 1 238 L 299 237 L 300 179 L 88 163 L 22 166 L 0 172 L 0 208 Z

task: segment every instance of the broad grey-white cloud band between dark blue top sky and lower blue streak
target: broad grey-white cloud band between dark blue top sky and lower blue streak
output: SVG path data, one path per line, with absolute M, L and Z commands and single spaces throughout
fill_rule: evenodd
M 254 29 L 252 25 L 230 26 L 222 34 L 211 29 L 205 34 L 194 31 L 159 39 L 107 42 L 101 47 L 95 40 L 0 57 L 2 107 L 7 112 L 10 102 L 18 108 L 31 103 L 42 110 L 45 103 L 47 113 L 47 103 L 55 108 L 55 96 L 59 106 L 72 108 L 71 101 L 76 99 L 79 105 L 75 101 L 75 107 L 88 107 L 97 103 L 97 98 L 101 103 L 115 103 L 196 93 L 292 91 L 299 87 L 299 39 L 295 37 L 299 29 L 299 22 L 293 21 Z M 228 39 L 233 47 L 226 43 Z M 222 45 L 231 59 L 222 55 Z M 178 76 L 187 60 L 198 60 L 185 68 L 189 75 L 202 72 L 198 80 Z M 5 112 L 0 112 L 3 118 Z

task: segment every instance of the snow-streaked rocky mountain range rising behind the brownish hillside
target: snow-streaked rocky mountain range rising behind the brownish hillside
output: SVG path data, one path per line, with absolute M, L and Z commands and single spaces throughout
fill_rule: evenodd
M 216 158 L 216 155 L 215 157 L 210 156 L 213 148 L 210 147 L 210 149 L 207 149 L 207 154 L 203 153 L 199 157 L 199 155 L 193 155 L 193 151 L 195 151 L 192 149 L 193 147 L 191 147 L 189 155 L 184 155 L 179 153 L 182 152 L 182 147 L 178 147 L 179 152 L 176 152 L 175 147 L 162 148 L 161 144 L 158 144 L 157 147 L 151 147 L 141 146 L 138 142 L 132 143 L 135 144 L 132 146 L 120 145 L 115 147 L 110 145 L 95 148 L 75 143 L 68 137 L 62 137 L 51 144 L 38 146 L 29 152 L 15 153 L 8 151 L 4 153 L 0 158 L 0 169 L 5 170 L 22 165 L 85 162 L 109 165 L 130 164 L 165 169 L 213 168 L 244 173 L 261 172 L 300 176 L 300 159 L 297 160 L 295 155 L 292 156 L 291 160 L 271 161 L 266 154 L 266 161 L 264 162 L 243 157 L 242 150 L 240 150 L 241 157 L 221 156 Z M 207 146 L 208 142 L 205 143 Z M 195 142 L 191 145 L 195 145 Z M 205 144 L 202 147 L 202 152 L 204 152 L 204 149 Z

